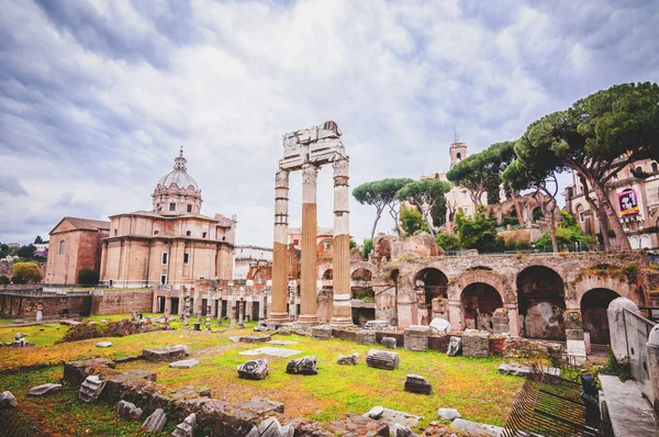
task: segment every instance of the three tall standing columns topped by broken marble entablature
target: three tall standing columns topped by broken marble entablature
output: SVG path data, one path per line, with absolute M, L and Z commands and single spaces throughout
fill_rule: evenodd
M 316 177 L 326 164 L 334 168 L 333 325 L 350 325 L 348 163 L 340 131 L 330 121 L 283 136 L 283 158 L 275 178 L 275 243 L 272 256 L 272 311 L 269 322 L 290 321 L 288 295 L 289 173 L 302 170 L 302 262 L 300 325 L 317 325 L 316 305 Z

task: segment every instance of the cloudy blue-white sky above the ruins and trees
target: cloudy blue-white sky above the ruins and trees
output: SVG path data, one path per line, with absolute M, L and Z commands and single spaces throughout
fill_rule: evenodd
M 150 210 L 185 147 L 202 213 L 272 245 L 282 135 L 334 120 L 350 186 L 448 170 L 616 83 L 658 81 L 656 0 L 4 0 L 0 242 Z M 302 182 L 291 176 L 291 226 Z M 332 168 L 319 224 L 333 223 Z M 350 233 L 375 211 L 350 201 Z M 391 232 L 383 217 L 378 232 Z

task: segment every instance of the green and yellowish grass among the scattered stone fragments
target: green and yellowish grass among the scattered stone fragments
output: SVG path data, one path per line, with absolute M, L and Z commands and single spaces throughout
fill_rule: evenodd
M 105 320 L 111 320 L 104 316 Z M 118 317 L 121 318 L 121 317 Z M 42 325 L 41 328 L 44 326 Z M 57 325 L 56 327 L 59 327 Z M 38 326 L 35 326 L 40 329 Z M 64 334 L 53 327 L 37 332 L 30 337 L 35 340 L 41 333 L 44 344 Z M 0 338 L 11 336 L 13 328 L 0 327 Z M 5 333 L 9 330 L 10 333 Z M 24 332 L 25 328 L 21 328 Z M 269 360 L 270 374 L 263 381 L 246 381 L 237 378 L 236 366 L 248 357 L 241 351 L 264 346 L 264 344 L 234 344 L 228 339 L 232 335 L 253 333 L 250 329 L 225 330 L 222 333 L 203 333 L 188 330 L 154 332 L 122 338 L 107 338 L 113 343 L 108 349 L 96 348 L 98 339 L 89 339 L 68 344 L 59 344 L 33 348 L 2 349 L 0 354 L 0 391 L 11 390 L 20 403 L 18 411 L 10 414 L 18 419 L 45 423 L 54 433 L 64 424 L 71 424 L 82 435 L 137 435 L 134 428 L 113 428 L 116 434 L 105 434 L 100 428 L 90 428 L 85 417 L 113 417 L 113 405 L 99 404 L 88 406 L 75 400 L 72 389 L 48 399 L 26 399 L 30 386 L 43 382 L 56 382 L 62 378 L 60 361 L 103 356 L 120 358 L 137 355 L 144 348 L 187 344 L 192 357 L 201 360 L 201 365 L 192 369 L 170 369 L 167 363 L 133 361 L 119 366 L 119 369 L 147 369 L 158 373 L 158 383 L 167 388 L 181 385 L 205 385 L 211 388 L 213 397 L 239 402 L 253 396 L 264 396 L 284 404 L 284 412 L 291 416 L 305 416 L 320 422 L 330 422 L 346 413 L 362 414 L 372 406 L 401 410 L 423 416 L 421 427 L 425 427 L 436 417 L 437 408 L 457 408 L 462 417 L 493 425 L 503 425 L 507 412 L 512 407 L 514 396 L 524 380 L 504 377 L 496 372 L 502 362 L 501 357 L 473 359 L 448 357 L 437 351 L 412 352 L 396 349 L 401 365 L 398 370 L 386 371 L 366 366 L 366 352 L 370 346 L 361 346 L 347 340 L 315 340 L 304 336 L 276 336 L 277 339 L 297 341 L 286 346 L 302 351 L 291 358 L 266 357 Z M 105 339 L 105 338 L 104 338 Z M 357 366 L 338 366 L 339 354 L 359 354 Z M 289 359 L 314 355 L 319 360 L 319 374 L 302 377 L 286 373 Z M 55 367 L 29 372 L 11 372 L 21 366 L 33 366 L 48 361 Z M 429 396 L 411 394 L 403 391 L 407 373 L 421 374 L 433 384 Z M 70 392 L 70 393 L 69 393 Z M 68 396 L 68 397 L 67 397 Z M 35 403 L 66 401 L 48 413 L 48 408 L 35 408 Z M 69 405 L 69 406 L 67 406 Z M 68 408 L 68 410 L 67 410 Z M 43 417 L 42 417 L 43 416 Z M 45 422 L 43 422 L 43 421 Z M 100 426 L 100 425 L 99 425 Z M 86 429 L 90 430 L 86 433 Z M 125 433 L 125 434 L 121 434 Z

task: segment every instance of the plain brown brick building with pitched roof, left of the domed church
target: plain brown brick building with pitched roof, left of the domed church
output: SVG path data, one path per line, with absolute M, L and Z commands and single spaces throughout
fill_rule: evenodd
M 101 238 L 110 233 L 110 222 L 64 217 L 51 231 L 46 278 L 49 284 L 78 283 L 83 268 L 99 271 Z

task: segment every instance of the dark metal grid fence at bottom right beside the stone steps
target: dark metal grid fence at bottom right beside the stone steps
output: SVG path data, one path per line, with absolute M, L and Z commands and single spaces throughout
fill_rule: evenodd
M 581 384 L 534 366 L 511 411 L 504 437 L 608 437 L 594 405 L 585 406 Z

